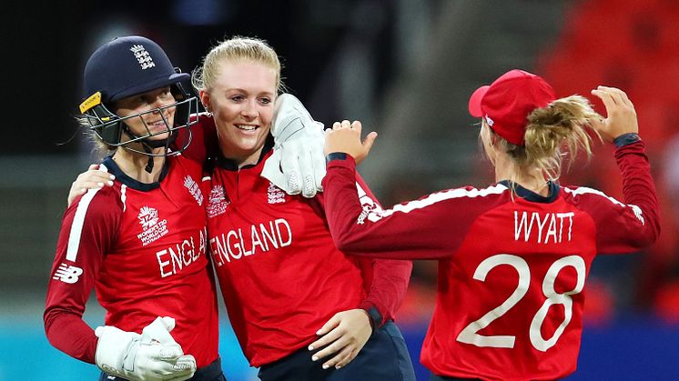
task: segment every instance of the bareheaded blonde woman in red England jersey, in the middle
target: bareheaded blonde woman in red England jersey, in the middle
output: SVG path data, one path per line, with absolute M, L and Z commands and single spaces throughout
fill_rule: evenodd
M 209 246 L 231 326 L 258 376 L 414 380 L 391 321 L 411 263 L 345 256 L 332 243 L 322 195 L 285 195 L 262 176 L 276 155 L 273 136 L 304 125 L 318 127 L 322 157 L 320 125 L 297 98 L 279 95 L 276 52 L 258 39 L 228 39 L 208 53 L 193 83 L 221 151 L 206 192 Z

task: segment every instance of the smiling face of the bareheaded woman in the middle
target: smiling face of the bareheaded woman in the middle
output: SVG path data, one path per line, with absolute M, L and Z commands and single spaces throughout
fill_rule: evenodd
M 200 92 L 215 119 L 222 155 L 238 165 L 257 162 L 269 135 L 278 73 L 258 61 L 224 59 L 218 75 Z

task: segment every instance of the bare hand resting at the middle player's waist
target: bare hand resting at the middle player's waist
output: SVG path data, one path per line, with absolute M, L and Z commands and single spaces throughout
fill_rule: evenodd
M 332 356 L 323 363 L 323 369 L 346 366 L 360 352 L 372 335 L 370 316 L 365 310 L 350 309 L 332 316 L 316 335 L 320 338 L 309 345 L 309 350 L 325 346 L 311 356 L 313 361 Z M 334 356 L 333 356 L 334 355 Z

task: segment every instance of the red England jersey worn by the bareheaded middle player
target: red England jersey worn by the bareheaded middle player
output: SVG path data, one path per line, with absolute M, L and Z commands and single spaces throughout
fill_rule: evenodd
M 231 326 L 251 366 L 309 345 L 340 311 L 375 306 L 384 320 L 392 318 L 412 266 L 339 252 L 322 196 L 289 196 L 260 176 L 271 143 L 258 165 L 238 170 L 218 159 L 211 184 L 206 182 L 212 262 Z

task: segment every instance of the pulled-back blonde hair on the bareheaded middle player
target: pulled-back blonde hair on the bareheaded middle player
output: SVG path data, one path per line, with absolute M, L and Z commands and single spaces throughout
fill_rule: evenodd
M 214 46 L 203 58 L 203 64 L 191 73 L 191 85 L 196 91 L 212 88 L 217 80 L 219 64 L 224 61 L 254 61 L 276 70 L 276 89 L 280 93 L 284 85 L 280 79 L 279 55 L 266 41 L 239 35 L 228 38 Z

